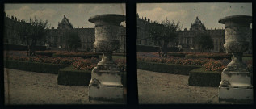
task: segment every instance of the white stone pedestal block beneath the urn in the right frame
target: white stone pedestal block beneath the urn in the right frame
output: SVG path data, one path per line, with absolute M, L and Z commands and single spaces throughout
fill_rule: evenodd
M 253 102 L 250 72 L 223 70 L 219 86 L 219 101 Z

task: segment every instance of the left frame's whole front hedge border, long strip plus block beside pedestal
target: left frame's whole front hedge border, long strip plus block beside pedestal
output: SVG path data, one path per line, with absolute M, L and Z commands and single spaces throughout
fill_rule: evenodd
M 65 86 L 88 86 L 91 78 L 91 70 L 73 69 L 72 65 L 4 60 L 4 67 L 8 69 L 20 69 L 37 73 L 58 74 L 57 83 Z M 126 72 L 122 73 L 121 76 L 122 83 L 124 87 L 126 87 Z

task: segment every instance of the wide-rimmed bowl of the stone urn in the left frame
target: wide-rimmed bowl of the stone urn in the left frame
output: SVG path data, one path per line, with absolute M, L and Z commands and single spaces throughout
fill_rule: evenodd
M 89 22 L 95 23 L 94 48 L 103 52 L 111 52 L 119 47 L 118 35 L 120 23 L 125 20 L 124 15 L 95 15 Z

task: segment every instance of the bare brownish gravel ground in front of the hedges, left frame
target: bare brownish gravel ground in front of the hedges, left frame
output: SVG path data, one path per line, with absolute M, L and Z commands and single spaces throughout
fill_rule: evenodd
M 4 69 L 5 104 L 120 104 L 88 99 L 87 86 L 57 84 L 57 74 Z

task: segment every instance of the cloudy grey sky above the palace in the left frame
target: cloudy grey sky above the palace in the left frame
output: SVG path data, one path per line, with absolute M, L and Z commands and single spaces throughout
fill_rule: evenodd
M 57 27 L 63 15 L 69 19 L 73 27 L 94 27 L 88 19 L 94 15 L 120 14 L 125 15 L 125 4 L 5 4 L 6 15 L 14 15 L 17 19 L 37 19 L 48 20 L 51 27 Z

